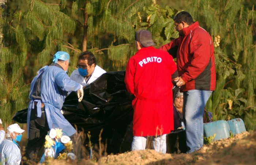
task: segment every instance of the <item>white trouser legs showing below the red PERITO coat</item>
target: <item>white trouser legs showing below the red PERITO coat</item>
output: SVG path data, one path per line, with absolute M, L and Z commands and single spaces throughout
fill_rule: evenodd
M 132 151 L 146 149 L 146 137 L 133 137 Z M 166 134 L 153 139 L 154 150 L 161 153 L 166 153 Z

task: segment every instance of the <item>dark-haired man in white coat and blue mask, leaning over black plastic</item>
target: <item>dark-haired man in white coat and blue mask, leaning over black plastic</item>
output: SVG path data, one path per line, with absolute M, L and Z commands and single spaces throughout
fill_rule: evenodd
M 70 78 L 83 85 L 83 87 L 106 73 L 105 70 L 96 65 L 95 56 L 90 51 L 84 51 L 79 55 L 77 67 L 78 69 L 71 73 Z

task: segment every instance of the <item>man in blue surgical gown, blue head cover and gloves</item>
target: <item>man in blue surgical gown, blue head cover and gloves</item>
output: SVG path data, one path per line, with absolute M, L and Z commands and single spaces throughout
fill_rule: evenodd
M 25 156 L 34 160 L 38 150 L 44 145 L 45 136 L 51 128 L 62 129 L 72 140 L 75 128 L 61 114 L 68 92 L 77 91 L 78 101 L 83 99 L 83 86 L 67 75 L 69 54 L 58 51 L 53 63 L 37 72 L 31 82 L 29 108 L 27 114 L 28 143 Z

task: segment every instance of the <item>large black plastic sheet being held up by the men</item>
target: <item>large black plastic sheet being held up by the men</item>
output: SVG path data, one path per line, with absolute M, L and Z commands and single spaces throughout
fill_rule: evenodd
M 62 110 L 64 117 L 78 130 L 90 131 L 91 142 L 107 140 L 107 152 L 119 153 L 128 125 L 132 122 L 133 108 L 124 83 L 124 71 L 107 72 L 84 88 L 81 102 L 75 92 L 65 99 Z M 12 118 L 16 122 L 27 122 L 27 109 L 18 111 Z M 88 138 L 86 139 L 88 140 Z

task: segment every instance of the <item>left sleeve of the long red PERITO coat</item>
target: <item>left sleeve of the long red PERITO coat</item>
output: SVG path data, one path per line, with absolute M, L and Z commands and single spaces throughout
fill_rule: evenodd
M 126 66 L 124 83 L 129 93 L 134 94 L 135 61 L 131 58 Z

